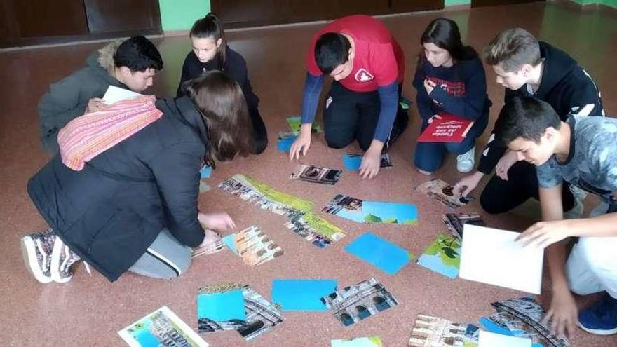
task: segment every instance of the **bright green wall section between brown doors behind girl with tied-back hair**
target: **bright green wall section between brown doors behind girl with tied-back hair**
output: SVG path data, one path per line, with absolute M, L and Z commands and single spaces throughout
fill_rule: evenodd
M 188 30 L 210 12 L 210 0 L 158 0 L 163 32 Z

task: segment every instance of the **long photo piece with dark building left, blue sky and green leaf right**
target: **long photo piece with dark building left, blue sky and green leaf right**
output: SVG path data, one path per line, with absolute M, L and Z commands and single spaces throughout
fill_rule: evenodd
M 409 203 L 365 201 L 339 194 L 323 207 L 322 212 L 360 223 L 418 224 L 418 210 Z

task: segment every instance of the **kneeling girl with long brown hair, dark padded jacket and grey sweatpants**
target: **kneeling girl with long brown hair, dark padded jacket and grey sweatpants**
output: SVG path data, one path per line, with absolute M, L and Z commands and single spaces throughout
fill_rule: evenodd
M 198 211 L 199 170 L 250 150 L 242 90 L 222 72 L 187 82 L 187 96 L 157 100 L 163 116 L 95 156 L 80 171 L 57 154 L 28 182 L 51 229 L 22 238 L 29 271 L 43 283 L 67 282 L 79 259 L 110 281 L 127 270 L 174 278 L 191 247 L 235 226 L 226 213 Z

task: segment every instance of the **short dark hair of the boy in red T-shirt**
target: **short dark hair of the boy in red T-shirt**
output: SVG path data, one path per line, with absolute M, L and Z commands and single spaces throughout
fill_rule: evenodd
M 324 74 L 330 74 L 340 64 L 349 59 L 351 43 L 343 35 L 336 32 L 327 32 L 315 43 L 315 62 Z

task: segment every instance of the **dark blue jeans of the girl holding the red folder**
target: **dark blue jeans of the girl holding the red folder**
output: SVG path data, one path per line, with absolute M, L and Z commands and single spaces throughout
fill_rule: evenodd
M 475 139 L 482 135 L 487 128 L 488 115 L 480 117 L 467 133 L 462 142 L 417 142 L 414 165 L 426 172 L 435 172 L 440 168 L 443 158 L 447 153 L 463 154 L 475 145 Z M 420 132 L 428 126 L 427 120 L 423 120 Z

